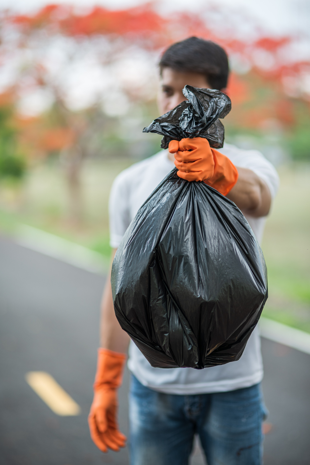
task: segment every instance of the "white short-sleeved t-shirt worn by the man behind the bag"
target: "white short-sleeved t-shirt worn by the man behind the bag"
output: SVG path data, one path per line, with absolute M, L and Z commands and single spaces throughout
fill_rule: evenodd
M 242 150 L 224 144 L 219 152 L 231 159 L 235 166 L 251 169 L 269 187 L 272 199 L 277 193 L 277 171 L 257 150 Z M 160 181 L 173 169 L 168 151 L 161 150 L 152 157 L 136 163 L 114 180 L 109 201 L 110 245 L 118 247 L 140 206 Z M 265 218 L 246 216 L 258 242 L 264 232 Z M 252 332 L 244 353 L 236 362 L 203 370 L 194 368 L 153 368 L 131 341 L 128 368 L 140 383 L 156 391 L 170 394 L 199 394 L 224 392 L 249 387 L 263 379 L 263 362 L 257 328 Z

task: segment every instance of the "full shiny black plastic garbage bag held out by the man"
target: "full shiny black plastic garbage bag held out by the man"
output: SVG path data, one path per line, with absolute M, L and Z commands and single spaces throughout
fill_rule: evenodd
M 196 94 L 219 93 L 186 87 Z M 193 108 L 185 107 L 190 130 L 198 120 Z M 216 105 L 215 111 L 223 114 Z M 164 116 L 168 124 L 168 113 Z M 208 118 L 210 128 L 214 119 Z M 177 131 L 173 124 L 171 131 Z M 207 128 L 201 131 L 208 139 Z M 180 179 L 177 169 L 125 232 L 111 284 L 120 326 L 150 364 L 161 368 L 201 369 L 238 360 L 267 299 L 263 253 L 244 215 L 212 187 Z

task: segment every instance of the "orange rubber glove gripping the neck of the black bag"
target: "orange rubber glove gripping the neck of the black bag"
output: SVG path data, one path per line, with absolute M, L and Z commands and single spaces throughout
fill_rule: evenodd
M 227 195 L 237 182 L 236 166 L 202 137 L 171 140 L 169 152 L 174 153 L 179 178 L 204 181 L 223 195 Z

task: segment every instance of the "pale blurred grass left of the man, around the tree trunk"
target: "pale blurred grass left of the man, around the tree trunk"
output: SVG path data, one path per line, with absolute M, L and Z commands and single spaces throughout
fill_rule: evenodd
M 132 160 L 89 161 L 82 177 L 83 218 L 70 217 L 65 174 L 57 163 L 33 167 L 20 183 L 0 183 L 0 229 L 37 227 L 110 257 L 108 197 L 112 182 Z

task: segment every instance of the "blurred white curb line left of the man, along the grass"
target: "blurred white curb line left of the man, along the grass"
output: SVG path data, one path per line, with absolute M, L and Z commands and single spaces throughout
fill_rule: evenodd
M 104 259 L 99 252 L 32 226 L 20 225 L 14 233 L 14 238 L 15 242 L 20 246 L 59 259 L 86 271 L 104 273 L 109 267 L 109 260 Z

